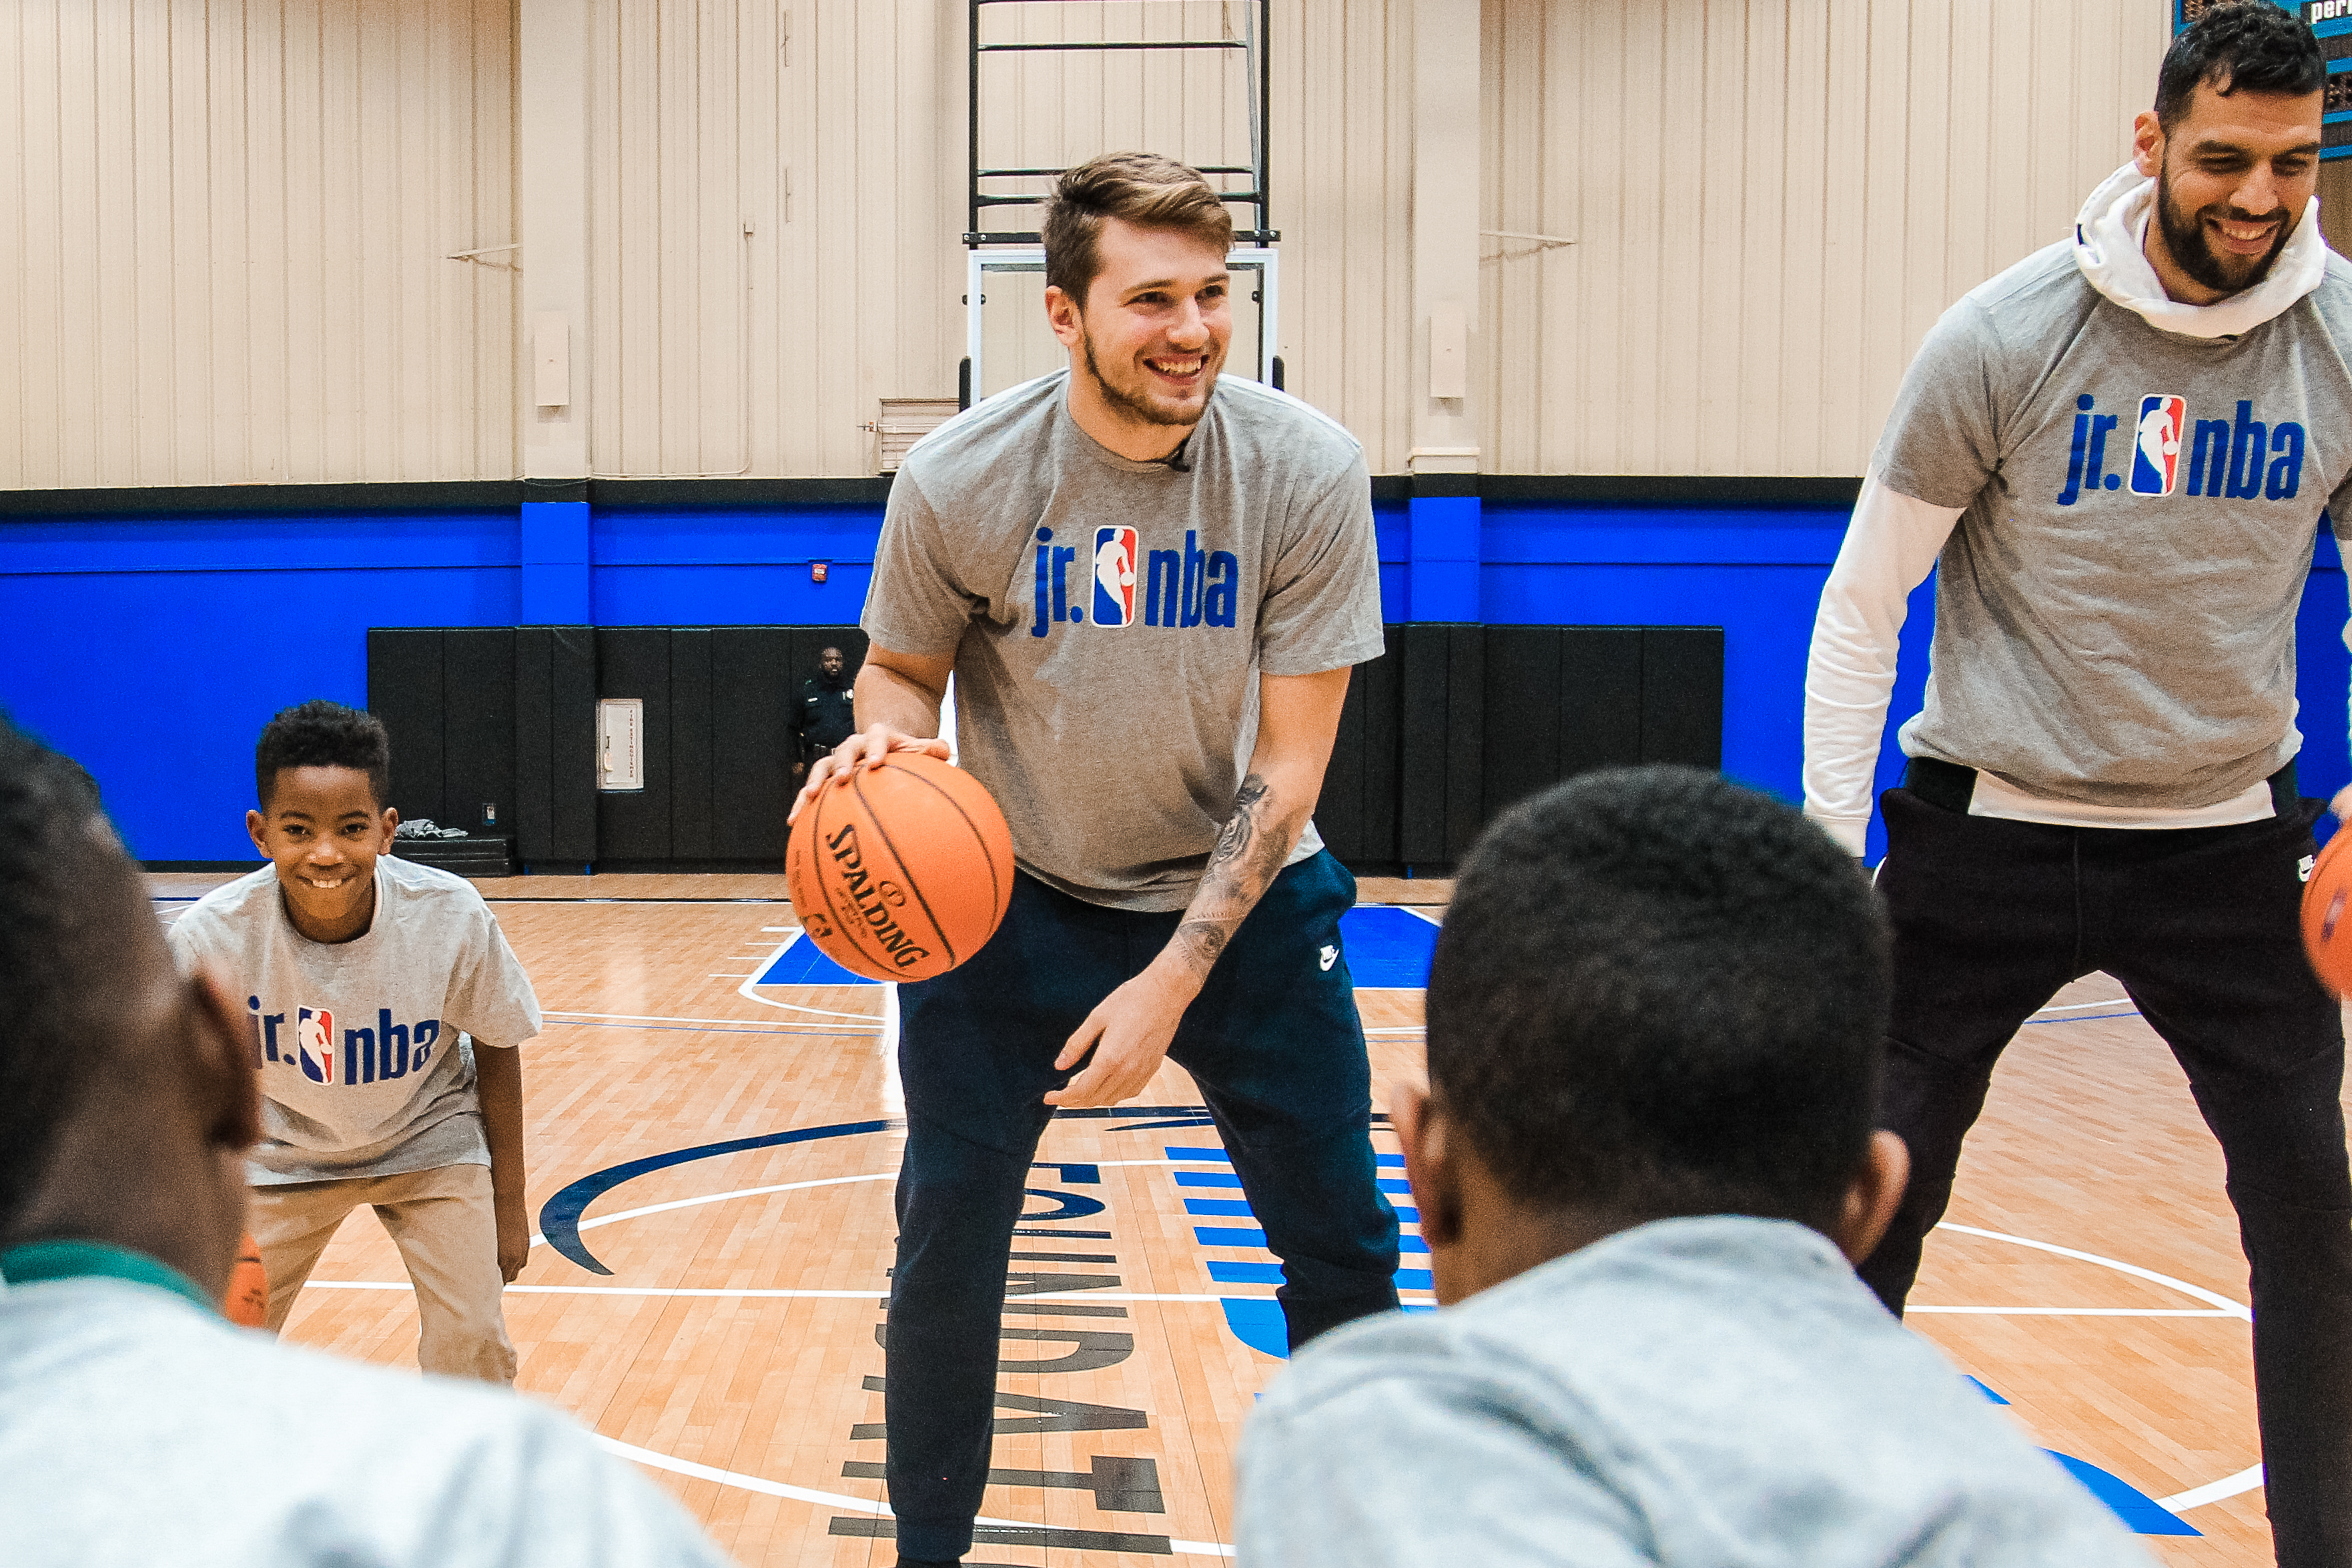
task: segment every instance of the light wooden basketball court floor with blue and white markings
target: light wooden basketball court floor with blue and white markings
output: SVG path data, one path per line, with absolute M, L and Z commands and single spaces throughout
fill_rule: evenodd
M 155 877 L 160 914 L 219 882 Z M 480 886 L 548 1013 L 524 1058 L 543 1239 L 506 1298 L 520 1389 L 644 1465 L 743 1563 L 891 1563 L 894 994 L 823 983 L 781 877 Z M 1418 1070 L 1411 964 L 1444 884 L 1367 879 L 1364 898 L 1350 966 L 1385 1095 Z M 1910 1321 L 2143 1533 L 2171 1530 L 2147 1535 L 2159 1559 L 2267 1563 L 2220 1154 L 2117 997 L 2093 976 L 2011 1046 Z M 1272 1255 L 1197 1107 L 1164 1067 L 1136 1105 L 1047 1131 L 971 1563 L 1230 1556 L 1230 1455 L 1282 1371 L 1263 1349 L 1279 1316 Z M 1385 1128 L 1374 1143 L 1395 1159 Z M 1411 1220 L 1402 1171 L 1383 1178 Z M 1423 1309 L 1425 1267 L 1406 1253 L 1399 1274 Z M 381 1227 L 343 1227 L 287 1338 L 414 1366 Z

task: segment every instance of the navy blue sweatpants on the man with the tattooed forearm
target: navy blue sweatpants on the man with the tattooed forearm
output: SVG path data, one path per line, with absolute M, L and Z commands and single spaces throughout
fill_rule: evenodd
M 1374 1182 L 1371 1065 L 1329 853 L 1275 877 L 1169 1048 L 1200 1084 L 1265 1244 L 1294 1347 L 1397 1305 L 1397 1215 Z M 988 1486 L 1011 1232 L 1087 1013 L 1143 971 L 1181 912 L 1105 910 L 1014 877 L 1004 926 L 962 969 L 898 987 L 906 1164 L 884 1413 L 898 1554 L 971 1547 Z

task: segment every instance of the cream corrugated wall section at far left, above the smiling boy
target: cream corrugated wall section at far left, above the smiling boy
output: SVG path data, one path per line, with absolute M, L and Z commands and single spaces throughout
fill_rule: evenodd
M 0 487 L 513 475 L 510 80 L 503 0 L 14 0 Z

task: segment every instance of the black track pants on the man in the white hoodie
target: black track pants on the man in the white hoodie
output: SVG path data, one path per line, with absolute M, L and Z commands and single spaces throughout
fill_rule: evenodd
M 1903 1309 L 2002 1046 L 2091 971 L 2187 1072 L 2251 1265 L 2253 1385 L 2281 1568 L 2352 1566 L 2352 1178 L 2343 1018 L 2298 936 L 2317 802 L 2237 827 L 2051 827 L 1889 790 L 1896 929 L 1882 1124 L 1912 1182 L 1863 1279 Z

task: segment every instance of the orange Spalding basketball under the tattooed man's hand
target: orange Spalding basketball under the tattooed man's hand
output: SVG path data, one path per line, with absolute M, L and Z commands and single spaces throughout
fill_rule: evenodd
M 1014 898 L 1014 835 L 971 773 L 924 752 L 828 783 L 783 858 L 800 929 L 870 980 L 943 976 Z

